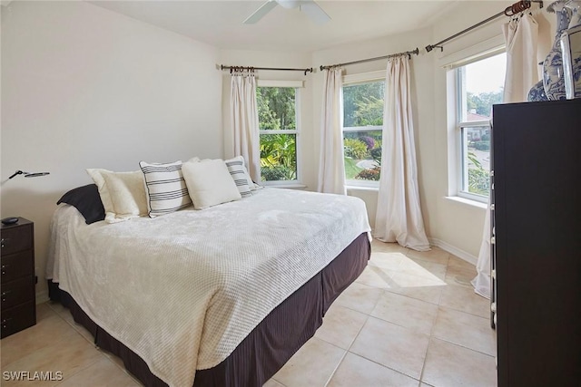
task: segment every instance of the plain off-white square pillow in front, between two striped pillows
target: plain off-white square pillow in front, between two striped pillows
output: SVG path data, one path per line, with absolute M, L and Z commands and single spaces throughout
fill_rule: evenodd
M 209 208 L 241 199 L 241 194 L 222 159 L 186 162 L 182 166 L 182 173 L 193 208 Z

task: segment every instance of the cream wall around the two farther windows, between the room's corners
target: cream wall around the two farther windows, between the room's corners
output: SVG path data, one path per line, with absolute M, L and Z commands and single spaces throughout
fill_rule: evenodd
M 322 102 L 322 73 L 319 70 L 320 65 L 329 65 L 335 63 L 345 63 L 350 61 L 357 61 L 364 58 L 372 58 L 389 53 L 399 53 L 403 51 L 413 50 L 416 47 L 421 48 L 422 44 L 427 44 L 431 39 L 431 30 L 428 28 L 394 36 L 387 36 L 366 42 L 358 42 L 353 44 L 343 44 L 337 47 L 323 50 L 316 53 L 265 53 L 253 51 L 222 51 L 222 63 L 232 65 L 253 65 L 261 67 L 313 67 L 316 73 L 308 73 L 304 76 L 303 73 L 286 73 L 286 72 L 259 72 L 261 79 L 304 79 L 305 88 L 301 94 L 301 127 L 302 127 L 302 159 L 303 165 L 303 183 L 307 185 L 307 189 L 317 189 L 317 174 L 319 170 L 319 149 L 320 149 L 320 111 Z M 426 227 L 429 226 L 428 203 L 433 201 L 429 195 L 429 176 L 434 175 L 434 171 L 429 170 L 432 165 L 430 159 L 434 152 L 431 144 L 433 143 L 433 103 L 431 98 L 433 95 L 433 82 L 431 74 L 433 73 L 432 58 L 425 53 L 419 56 L 414 56 L 412 59 L 412 87 L 413 104 L 417 107 L 414 111 L 414 118 L 416 120 L 416 145 L 419 158 L 419 179 L 426 181 L 424 185 L 420 186 L 420 196 L 424 209 L 424 217 L 426 219 Z M 345 74 L 351 73 L 367 73 L 374 71 L 384 71 L 386 69 L 387 61 L 377 61 L 369 63 L 360 63 L 346 66 Z M 228 75 L 224 75 L 222 95 L 223 95 L 223 121 L 229 121 L 229 95 L 230 83 L 228 82 Z M 228 143 L 229 139 L 224 139 Z M 226 144 L 228 148 L 228 144 Z M 426 160 L 422 163 L 422 160 Z M 425 167 L 423 167 L 425 166 Z M 422 179 L 426 176 L 426 179 Z M 349 195 L 362 198 L 367 205 L 369 221 L 373 226 L 375 223 L 375 212 L 377 208 L 377 191 L 369 189 L 349 189 Z M 429 230 L 428 230 L 429 233 Z

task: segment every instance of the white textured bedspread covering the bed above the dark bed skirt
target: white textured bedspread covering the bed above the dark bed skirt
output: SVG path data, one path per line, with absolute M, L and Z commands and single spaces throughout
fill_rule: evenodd
M 164 382 L 191 387 L 369 231 L 359 198 L 291 189 L 115 224 L 61 205 L 47 278 Z

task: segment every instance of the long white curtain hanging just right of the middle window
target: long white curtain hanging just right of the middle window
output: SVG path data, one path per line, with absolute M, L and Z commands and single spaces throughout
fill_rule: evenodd
M 374 236 L 418 251 L 429 250 L 419 203 L 408 56 L 389 60 L 383 146 Z

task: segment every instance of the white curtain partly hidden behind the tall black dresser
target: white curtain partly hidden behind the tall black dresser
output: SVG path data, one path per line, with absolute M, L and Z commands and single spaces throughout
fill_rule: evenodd
M 526 102 L 531 87 L 538 82 L 537 21 L 529 13 L 513 17 L 502 26 L 507 42 L 507 73 L 503 102 Z M 493 128 L 494 130 L 494 128 Z M 478 295 L 490 298 L 490 206 L 484 218 L 482 244 L 472 280 Z

